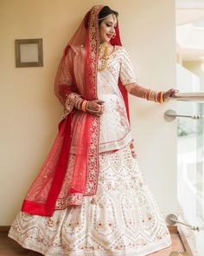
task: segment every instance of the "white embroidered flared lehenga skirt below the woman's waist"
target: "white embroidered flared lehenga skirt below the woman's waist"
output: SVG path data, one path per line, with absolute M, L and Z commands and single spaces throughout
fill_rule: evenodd
M 20 212 L 9 237 L 48 256 L 144 256 L 171 244 L 130 146 L 99 154 L 97 194 L 52 218 Z

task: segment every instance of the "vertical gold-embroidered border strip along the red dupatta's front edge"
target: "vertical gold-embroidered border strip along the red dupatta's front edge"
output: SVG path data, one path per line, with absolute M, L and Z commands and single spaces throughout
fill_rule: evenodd
M 97 72 L 98 72 L 98 49 L 99 49 L 99 11 L 102 5 L 92 8 L 89 24 L 88 55 L 86 57 L 86 89 L 87 99 L 97 99 Z M 85 73 L 86 74 L 86 73 Z M 86 192 L 84 195 L 96 194 L 99 176 L 99 117 L 92 115 L 90 148 L 87 160 Z

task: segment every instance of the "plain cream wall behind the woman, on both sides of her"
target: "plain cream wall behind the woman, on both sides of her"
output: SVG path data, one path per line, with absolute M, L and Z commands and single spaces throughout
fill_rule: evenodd
M 173 0 L 0 2 L 0 225 L 10 225 L 54 141 L 62 108 L 53 92 L 62 50 L 93 4 L 119 12 L 121 37 L 151 89 L 175 86 Z M 14 40 L 43 38 L 44 67 L 15 68 Z M 131 127 L 138 161 L 163 215 L 175 212 L 175 123 L 163 119 L 163 105 L 131 97 Z

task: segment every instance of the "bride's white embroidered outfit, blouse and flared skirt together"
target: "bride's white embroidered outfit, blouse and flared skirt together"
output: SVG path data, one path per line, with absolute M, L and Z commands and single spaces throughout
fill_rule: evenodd
M 118 77 L 135 82 L 129 56 L 116 47 L 98 73 L 100 117 L 97 193 L 52 218 L 20 212 L 9 236 L 47 256 L 145 256 L 171 244 L 169 230 L 137 164 Z

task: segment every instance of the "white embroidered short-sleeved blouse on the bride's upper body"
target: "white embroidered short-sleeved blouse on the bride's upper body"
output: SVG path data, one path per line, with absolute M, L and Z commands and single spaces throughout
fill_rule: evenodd
M 98 98 L 105 102 L 105 111 L 100 117 L 100 153 L 124 148 L 131 141 L 131 128 L 118 79 L 123 85 L 137 82 L 130 57 L 121 46 L 115 46 L 105 69 L 98 71 Z

